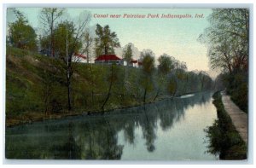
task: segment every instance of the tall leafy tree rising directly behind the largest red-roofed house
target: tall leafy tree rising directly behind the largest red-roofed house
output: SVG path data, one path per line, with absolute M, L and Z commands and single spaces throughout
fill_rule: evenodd
M 113 48 L 120 47 L 119 38 L 115 32 L 111 32 L 109 26 L 96 25 L 96 56 L 114 54 Z

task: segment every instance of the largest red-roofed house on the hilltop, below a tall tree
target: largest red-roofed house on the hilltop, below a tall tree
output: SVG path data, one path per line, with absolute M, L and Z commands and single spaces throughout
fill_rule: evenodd
M 122 65 L 122 60 L 117 55 L 100 55 L 96 58 L 95 63 Z

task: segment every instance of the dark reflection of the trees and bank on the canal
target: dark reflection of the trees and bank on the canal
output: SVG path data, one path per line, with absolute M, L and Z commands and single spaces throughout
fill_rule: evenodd
M 114 110 L 103 116 L 70 117 L 7 128 L 6 158 L 121 159 L 126 143 L 136 148 L 136 129 L 142 130 L 139 136 L 145 140 L 144 148 L 154 153 L 155 142 L 161 139 L 158 131 L 172 131 L 172 126 L 184 119 L 187 109 L 204 106 L 211 95 L 205 92 Z M 119 140 L 121 131 L 124 142 Z

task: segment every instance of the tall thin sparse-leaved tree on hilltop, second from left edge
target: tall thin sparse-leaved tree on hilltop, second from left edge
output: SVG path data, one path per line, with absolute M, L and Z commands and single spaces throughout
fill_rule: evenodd
M 61 17 L 63 14 L 64 9 L 57 9 L 57 8 L 44 8 L 41 10 L 40 20 L 46 27 L 46 32 L 49 32 L 50 38 L 50 55 L 55 57 L 55 25 L 56 20 Z

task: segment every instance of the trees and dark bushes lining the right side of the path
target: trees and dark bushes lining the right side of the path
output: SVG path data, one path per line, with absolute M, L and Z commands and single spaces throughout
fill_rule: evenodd
M 212 68 L 221 69 L 225 89 L 247 113 L 249 55 L 249 10 L 212 9 L 210 26 L 199 38 L 208 45 Z

